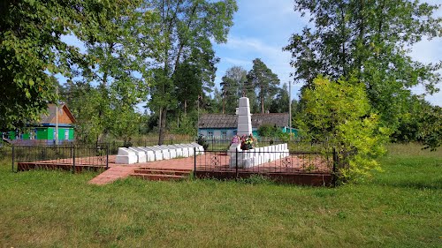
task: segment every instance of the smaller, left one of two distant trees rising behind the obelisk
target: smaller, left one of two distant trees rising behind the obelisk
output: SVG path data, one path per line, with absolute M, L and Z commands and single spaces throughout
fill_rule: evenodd
M 247 71 L 240 66 L 232 66 L 225 71 L 220 85 L 223 94 L 223 111 L 222 113 L 234 113 L 238 107 L 238 98 L 244 92 L 244 82 L 247 80 Z

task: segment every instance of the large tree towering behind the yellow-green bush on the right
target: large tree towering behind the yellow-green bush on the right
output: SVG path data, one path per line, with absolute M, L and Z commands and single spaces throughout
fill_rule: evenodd
M 407 110 L 410 88 L 436 91 L 441 64 L 421 64 L 409 56 L 423 37 L 440 37 L 438 6 L 408 0 L 296 0 L 296 11 L 309 13 L 315 28 L 293 34 L 289 45 L 294 78 L 310 88 L 322 74 L 332 80 L 356 77 L 366 87 L 370 105 L 384 124 L 396 128 Z

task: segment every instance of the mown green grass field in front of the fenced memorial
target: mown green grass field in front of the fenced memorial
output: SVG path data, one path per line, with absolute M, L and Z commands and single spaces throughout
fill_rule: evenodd
M 0 247 L 441 247 L 442 152 L 394 145 L 373 180 L 269 182 L 11 173 L 0 162 Z M 259 181 L 259 180 L 256 180 Z

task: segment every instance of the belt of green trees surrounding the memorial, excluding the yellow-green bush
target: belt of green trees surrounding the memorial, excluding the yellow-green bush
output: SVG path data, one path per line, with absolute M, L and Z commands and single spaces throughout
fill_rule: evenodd
M 233 66 L 220 87 L 214 85 L 219 58 L 212 43 L 227 41 L 237 9 L 234 0 L 3 1 L 0 128 L 23 128 L 38 121 L 49 102 L 65 101 L 82 142 L 155 133 L 161 144 L 168 132 L 194 135 L 198 114 L 233 113 L 242 95 L 254 113 L 287 112 L 287 86 L 259 58 L 252 70 Z M 293 34 L 284 48 L 302 84 L 300 99 L 290 104 L 293 126 L 303 126 L 310 138 L 339 127 L 328 119 L 319 125 L 329 128 L 318 128 L 315 113 L 306 111 L 315 100 L 305 93 L 322 75 L 332 84 L 362 84 L 370 109 L 357 118 L 376 114 L 392 141 L 440 146 L 440 107 L 410 89 L 438 91 L 441 64 L 409 56 L 415 42 L 441 36 L 437 9 L 408 0 L 294 1 L 315 28 Z M 63 42 L 64 35 L 86 50 Z M 68 79 L 62 86 L 58 75 Z M 148 110 L 139 113 L 140 105 Z M 332 117 L 336 106 L 329 107 Z

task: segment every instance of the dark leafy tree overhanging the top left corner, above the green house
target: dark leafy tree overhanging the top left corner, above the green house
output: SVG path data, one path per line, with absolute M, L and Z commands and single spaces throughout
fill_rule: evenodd
M 94 8 L 92 8 L 94 6 Z M 57 100 L 60 73 L 82 62 L 78 49 L 61 36 L 78 32 L 113 3 L 95 1 L 11 1 L 0 3 L 0 130 L 37 122 Z

